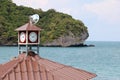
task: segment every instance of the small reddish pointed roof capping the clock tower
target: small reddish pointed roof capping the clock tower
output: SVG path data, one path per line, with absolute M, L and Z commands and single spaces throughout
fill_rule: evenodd
M 32 24 L 31 22 L 26 23 L 25 25 L 16 29 L 16 31 L 31 31 L 31 30 L 40 31 L 41 29 L 35 26 L 34 24 Z

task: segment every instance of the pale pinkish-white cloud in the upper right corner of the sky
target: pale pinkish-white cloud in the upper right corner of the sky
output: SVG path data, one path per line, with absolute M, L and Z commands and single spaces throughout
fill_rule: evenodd
M 83 8 L 105 21 L 120 21 L 120 0 L 104 0 L 102 2 L 85 4 Z

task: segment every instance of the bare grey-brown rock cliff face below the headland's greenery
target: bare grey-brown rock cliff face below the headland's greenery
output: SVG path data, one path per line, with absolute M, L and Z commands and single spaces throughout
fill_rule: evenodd
M 58 39 L 53 40 L 52 42 L 45 43 L 43 44 L 43 46 L 68 47 L 83 45 L 88 36 L 89 34 L 87 32 L 83 32 L 79 36 L 75 36 L 73 33 L 70 33 L 69 35 L 61 36 Z

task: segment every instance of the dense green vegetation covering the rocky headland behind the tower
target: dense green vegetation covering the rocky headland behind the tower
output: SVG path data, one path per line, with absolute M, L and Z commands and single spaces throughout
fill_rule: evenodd
M 80 36 L 82 32 L 88 32 L 87 27 L 80 20 L 75 20 L 68 14 L 63 14 L 49 9 L 32 9 L 30 7 L 17 6 L 12 0 L 0 0 L 0 44 L 17 43 L 15 29 L 27 23 L 29 16 L 39 14 L 40 20 L 36 24 L 42 28 L 41 42 L 53 41 L 61 35 L 69 35 L 72 32 Z

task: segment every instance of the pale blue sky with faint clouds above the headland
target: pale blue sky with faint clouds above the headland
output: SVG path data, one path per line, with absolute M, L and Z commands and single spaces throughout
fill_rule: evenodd
M 120 0 L 13 0 L 18 6 L 55 9 L 88 27 L 87 41 L 120 41 Z

